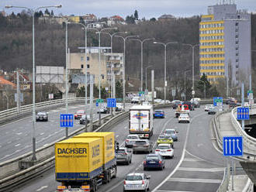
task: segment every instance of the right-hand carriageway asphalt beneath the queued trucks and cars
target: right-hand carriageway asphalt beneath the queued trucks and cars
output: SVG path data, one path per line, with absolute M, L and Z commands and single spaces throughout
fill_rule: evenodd
M 99 187 L 99 191 L 123 191 L 123 179 L 127 173 L 144 172 L 151 176 L 150 191 L 216 191 L 223 178 L 225 161 L 223 156 L 213 147 L 209 122 L 212 118 L 201 108 L 192 111 L 190 124 L 178 124 L 173 109 L 164 109 L 166 118 L 154 119 L 154 136 L 164 130 L 175 128 L 178 131 L 178 142 L 175 142 L 175 157 L 165 159 L 164 170 L 143 170 L 143 160 L 146 154 L 133 155 L 129 166 L 119 165 L 116 179 Z M 125 119 L 113 127 L 116 140 L 123 144 L 128 135 L 128 120 Z M 60 183 L 55 181 L 54 169 L 43 173 L 40 177 L 24 183 L 13 191 L 45 191 L 54 192 Z

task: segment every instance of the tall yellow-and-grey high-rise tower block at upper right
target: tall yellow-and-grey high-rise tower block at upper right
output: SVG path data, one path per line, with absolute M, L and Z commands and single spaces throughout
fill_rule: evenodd
M 200 75 L 211 82 L 229 78 L 234 85 L 251 73 L 251 15 L 234 2 L 208 7 L 199 23 Z

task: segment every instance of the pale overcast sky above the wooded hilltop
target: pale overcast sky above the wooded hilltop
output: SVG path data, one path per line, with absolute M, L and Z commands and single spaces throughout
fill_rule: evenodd
M 228 0 L 227 0 L 228 1 Z M 62 5 L 61 9 L 54 9 L 55 15 L 85 15 L 93 13 L 97 17 L 109 17 L 133 14 L 137 9 L 139 18 L 159 17 L 171 14 L 176 17 L 188 17 L 207 13 L 208 5 L 216 5 L 218 0 L 0 0 L 0 10 L 5 5 L 26 6 L 36 8 L 45 5 Z M 248 9 L 256 12 L 256 0 L 235 0 L 237 9 Z M 21 9 L 5 9 L 5 12 L 20 12 Z

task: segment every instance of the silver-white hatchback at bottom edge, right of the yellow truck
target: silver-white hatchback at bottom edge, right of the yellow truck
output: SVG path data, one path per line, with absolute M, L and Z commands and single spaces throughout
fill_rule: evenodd
M 123 191 L 149 190 L 150 176 L 145 173 L 129 173 L 123 182 Z

